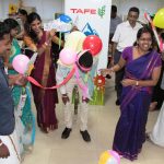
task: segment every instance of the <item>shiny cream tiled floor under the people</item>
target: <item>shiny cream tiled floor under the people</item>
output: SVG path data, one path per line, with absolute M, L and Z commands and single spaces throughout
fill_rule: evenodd
M 115 106 L 114 81 L 108 80 L 106 86 L 105 106 L 90 106 L 89 132 L 92 141 L 86 143 L 79 132 L 79 121 L 74 118 L 70 138 L 61 139 L 65 129 L 61 104 L 57 106 L 59 128 L 48 134 L 37 129 L 33 153 L 27 154 L 23 164 L 97 164 L 99 154 L 112 149 L 115 126 L 119 117 L 119 107 Z M 149 114 L 148 131 L 153 128 L 157 112 Z M 121 164 L 131 162 L 121 159 Z M 145 142 L 139 159 L 133 164 L 163 164 L 164 148 Z

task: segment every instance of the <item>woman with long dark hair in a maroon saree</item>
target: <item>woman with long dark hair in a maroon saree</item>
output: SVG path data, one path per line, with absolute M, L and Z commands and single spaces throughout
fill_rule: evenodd
M 56 85 L 55 67 L 51 60 L 51 42 L 56 40 L 55 31 L 44 32 L 42 20 L 37 13 L 27 16 L 30 28 L 24 36 L 24 43 L 32 50 L 38 52 L 32 77 L 43 86 Z M 48 132 L 58 127 L 55 113 L 58 103 L 57 90 L 43 90 L 32 84 L 34 102 L 37 110 L 37 124 L 44 131 Z

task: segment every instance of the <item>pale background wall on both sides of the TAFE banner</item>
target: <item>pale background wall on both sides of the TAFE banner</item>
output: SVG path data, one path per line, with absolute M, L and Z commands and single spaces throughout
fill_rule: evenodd
M 0 0 L 0 20 L 7 19 L 9 3 L 17 3 L 19 0 Z M 38 14 L 43 20 L 54 19 L 55 12 L 65 11 L 65 0 L 23 0 L 25 5 L 36 7 Z M 126 16 L 130 7 L 140 9 L 140 20 L 143 20 L 143 13 L 148 10 L 155 13 L 164 8 L 164 0 L 113 0 L 113 4 L 118 7 L 118 15 Z

